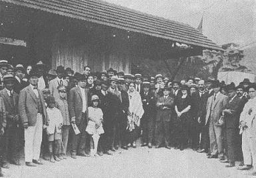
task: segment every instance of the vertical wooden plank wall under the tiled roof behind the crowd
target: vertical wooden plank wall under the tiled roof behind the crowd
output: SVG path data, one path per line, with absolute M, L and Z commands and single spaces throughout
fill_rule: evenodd
M 96 42 L 91 37 L 77 36 L 79 35 L 72 36 L 61 32 L 55 35 L 51 52 L 53 69 L 62 65 L 82 73 L 83 67 L 88 65 L 92 67 L 92 71 L 104 71 L 112 67 L 116 71 L 130 73 L 130 62 L 134 57 L 127 44 L 118 39 L 104 43 Z M 106 48 L 102 44 L 109 46 Z

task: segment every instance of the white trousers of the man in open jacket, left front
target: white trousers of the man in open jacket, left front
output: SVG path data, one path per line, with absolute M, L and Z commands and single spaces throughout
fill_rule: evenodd
M 38 160 L 41 151 L 43 134 L 43 117 L 37 114 L 35 126 L 25 128 L 25 161 L 32 162 L 32 159 Z

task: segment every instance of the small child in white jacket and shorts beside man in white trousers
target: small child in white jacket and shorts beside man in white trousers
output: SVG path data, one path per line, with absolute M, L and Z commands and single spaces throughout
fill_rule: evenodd
M 49 141 L 50 161 L 61 161 L 61 127 L 63 126 L 63 116 L 61 111 L 55 107 L 55 98 L 49 97 L 47 99 L 47 114 L 49 116 L 49 126 L 47 126 L 47 134 Z M 54 149 L 54 154 L 53 154 Z

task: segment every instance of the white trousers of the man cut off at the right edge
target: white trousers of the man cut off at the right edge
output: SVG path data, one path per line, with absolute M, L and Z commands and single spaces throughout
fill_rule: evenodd
M 245 165 L 253 165 L 253 169 L 256 170 L 256 135 L 252 136 L 250 129 L 254 128 L 246 128 L 245 130 L 243 130 L 243 161 Z

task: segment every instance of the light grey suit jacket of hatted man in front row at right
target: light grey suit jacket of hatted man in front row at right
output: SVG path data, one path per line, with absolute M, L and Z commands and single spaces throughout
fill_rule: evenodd
M 213 120 L 213 122 L 217 124 L 217 122 L 219 121 L 219 118 L 222 115 L 223 109 L 225 109 L 227 105 L 227 96 L 223 95 L 222 93 L 219 93 L 217 95 L 215 101 L 213 101 L 213 99 L 214 99 L 214 95 L 209 97 L 207 100 L 207 105 L 206 105 L 207 112 L 205 116 L 205 125 L 207 124 L 208 121 L 211 121 L 211 120 Z M 211 113 L 211 105 L 213 105 L 212 113 Z

